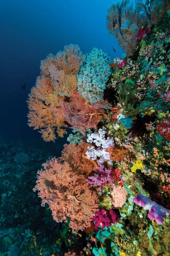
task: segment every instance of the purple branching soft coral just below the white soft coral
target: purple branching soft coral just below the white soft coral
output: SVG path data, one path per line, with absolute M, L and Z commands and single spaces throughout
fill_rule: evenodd
M 95 169 L 98 174 L 95 173 L 94 176 L 89 176 L 88 179 L 86 179 L 86 181 L 87 184 L 90 184 L 90 187 L 99 186 L 97 190 L 99 191 L 99 195 L 101 196 L 102 189 L 107 187 L 107 184 L 111 184 L 112 186 L 114 186 L 114 183 L 112 181 L 114 179 L 114 172 L 112 167 L 104 169 L 104 166 L 101 165 L 99 161 L 97 161 L 97 163 L 99 167 Z

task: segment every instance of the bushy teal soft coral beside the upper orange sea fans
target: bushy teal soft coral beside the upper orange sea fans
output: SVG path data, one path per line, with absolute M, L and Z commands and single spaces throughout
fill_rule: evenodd
M 93 48 L 78 74 L 77 90 L 88 103 L 96 103 L 103 100 L 106 82 L 111 74 L 111 67 L 108 65 L 110 58 L 102 50 Z

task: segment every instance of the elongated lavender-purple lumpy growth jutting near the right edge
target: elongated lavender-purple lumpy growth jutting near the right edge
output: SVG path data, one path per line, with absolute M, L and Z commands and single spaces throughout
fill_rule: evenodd
M 169 215 L 169 211 L 163 206 L 157 204 L 155 201 L 152 201 L 150 198 L 138 194 L 133 201 L 143 207 L 144 210 L 149 210 L 148 218 L 155 220 L 157 224 L 163 224 L 163 218 L 166 218 Z

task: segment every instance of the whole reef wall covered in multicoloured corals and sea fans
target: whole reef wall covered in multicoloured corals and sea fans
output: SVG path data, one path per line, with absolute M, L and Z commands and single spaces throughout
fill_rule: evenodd
M 41 61 L 29 126 L 45 141 L 74 133 L 34 188 L 67 230 L 53 255 L 169 255 L 169 7 L 109 7 L 107 28 L 126 54 L 113 65 L 101 50 L 84 56 L 73 44 Z

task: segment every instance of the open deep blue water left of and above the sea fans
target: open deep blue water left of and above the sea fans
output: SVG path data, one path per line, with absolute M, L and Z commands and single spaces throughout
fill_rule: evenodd
M 122 49 L 106 28 L 107 10 L 112 3 L 112 0 L 0 1 L 0 143 L 36 140 L 37 145 L 54 144 L 44 142 L 27 125 L 26 100 L 39 76 L 40 60 L 49 53 L 55 55 L 70 43 L 78 44 L 83 54 L 89 54 L 93 47 L 101 48 L 111 62 L 121 57 Z M 22 83 L 26 83 L 25 89 Z M 55 144 L 62 147 L 63 139 Z

